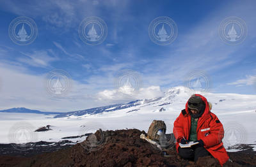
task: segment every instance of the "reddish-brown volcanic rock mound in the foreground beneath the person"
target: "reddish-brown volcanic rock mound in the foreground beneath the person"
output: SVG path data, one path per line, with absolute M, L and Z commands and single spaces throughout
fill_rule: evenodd
M 169 143 L 162 152 L 142 140 L 141 133 L 145 131 L 99 130 L 68 149 L 32 157 L 0 156 L 0 166 L 220 166 L 210 156 L 202 157 L 196 163 L 181 159 L 174 143 Z M 255 152 L 250 152 L 250 156 L 248 153 L 228 153 L 234 162 L 224 166 L 255 166 Z

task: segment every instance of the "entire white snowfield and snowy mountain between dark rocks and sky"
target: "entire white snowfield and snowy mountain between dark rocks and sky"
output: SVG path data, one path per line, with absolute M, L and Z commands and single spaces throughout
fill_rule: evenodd
M 202 93 L 212 103 L 212 112 L 222 122 L 225 129 L 223 143 L 226 148 L 239 143 L 256 143 L 255 109 L 256 96 L 243 94 Z M 0 113 L 0 143 L 10 143 L 20 136 L 17 127 L 28 127 L 29 142 L 58 142 L 67 136 L 93 133 L 97 129 L 136 128 L 147 132 L 152 120 L 164 120 L 166 133 L 172 133 L 173 122 L 184 109 L 191 91 L 186 87 L 173 87 L 162 98 L 143 99 L 127 104 L 92 108 L 68 114 L 42 115 L 35 113 Z M 90 111 L 90 112 L 86 112 Z M 82 114 L 83 113 L 83 114 Z M 22 123 L 23 122 L 23 123 Z M 25 123 L 24 123 L 25 122 Z M 51 125 L 51 131 L 33 132 L 38 127 Z M 16 136 L 13 133 L 17 134 Z M 27 135 L 28 136 L 28 135 Z M 28 138 L 28 137 L 27 137 Z M 85 137 L 72 138 L 81 142 Z M 232 147 L 229 148 L 232 150 Z M 236 150 L 236 149 L 233 149 Z

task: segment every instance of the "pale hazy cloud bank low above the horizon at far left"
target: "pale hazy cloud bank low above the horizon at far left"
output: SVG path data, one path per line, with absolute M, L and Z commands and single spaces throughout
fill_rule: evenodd
M 51 112 L 83 110 L 104 103 L 95 101 L 95 87 L 72 80 L 72 87 L 63 98 L 52 98 L 46 90 L 44 75 L 32 75 L 28 69 L 0 62 L 0 110 L 26 107 Z

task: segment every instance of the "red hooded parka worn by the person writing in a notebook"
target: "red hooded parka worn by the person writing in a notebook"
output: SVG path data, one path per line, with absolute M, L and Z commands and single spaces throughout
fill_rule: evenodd
M 195 96 L 200 96 L 200 98 L 205 103 L 205 110 L 202 116 L 198 119 L 197 123 L 197 140 L 202 140 L 204 142 L 204 148 L 211 153 L 213 157 L 218 159 L 221 166 L 226 163 L 229 159 L 228 154 L 223 147 L 222 138 L 224 137 L 223 126 L 214 113 L 211 112 L 209 103 L 207 99 L 200 95 L 195 94 Z M 191 128 L 191 116 L 188 111 L 188 102 L 186 103 L 186 109 L 182 110 L 179 117 L 175 120 L 173 125 L 173 134 L 177 140 L 176 149 L 177 152 L 179 148 L 179 142 L 184 136 L 186 140 L 189 139 L 189 133 Z

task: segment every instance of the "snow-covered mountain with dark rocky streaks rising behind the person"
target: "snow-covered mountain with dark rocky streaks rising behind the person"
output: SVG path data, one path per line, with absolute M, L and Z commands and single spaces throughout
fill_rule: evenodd
M 132 113 L 179 113 L 184 109 L 186 101 L 191 96 L 187 87 L 173 87 L 164 93 L 161 98 L 140 99 L 118 105 L 102 106 L 67 112 L 56 115 L 54 118 L 83 118 L 83 117 L 122 117 Z M 212 103 L 212 112 L 223 114 L 250 112 L 256 109 L 256 96 L 243 94 L 215 94 L 197 92 L 205 96 Z

